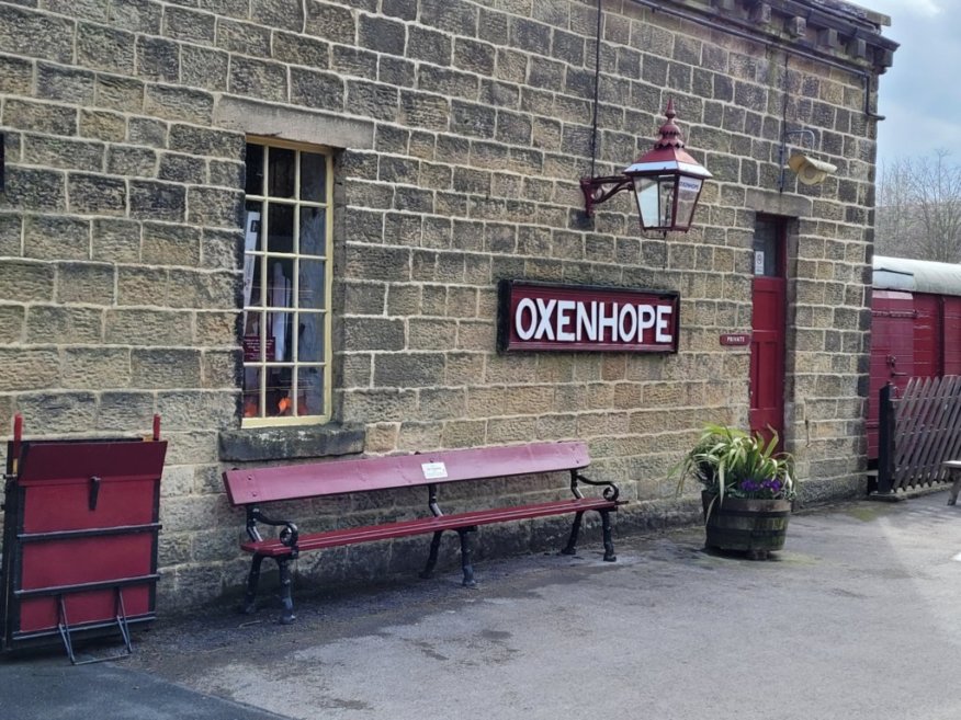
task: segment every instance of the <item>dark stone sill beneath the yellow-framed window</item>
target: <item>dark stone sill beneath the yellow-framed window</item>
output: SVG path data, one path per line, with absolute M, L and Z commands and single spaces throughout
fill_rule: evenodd
M 222 431 L 223 462 L 294 460 L 363 453 L 364 430 L 359 425 L 296 425 Z

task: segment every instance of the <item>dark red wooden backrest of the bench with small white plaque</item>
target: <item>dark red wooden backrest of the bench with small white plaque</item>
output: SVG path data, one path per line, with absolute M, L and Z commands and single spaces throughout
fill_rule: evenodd
M 249 505 L 364 490 L 575 470 L 588 465 L 590 455 L 584 443 L 533 443 L 228 470 L 224 472 L 224 484 L 231 504 Z

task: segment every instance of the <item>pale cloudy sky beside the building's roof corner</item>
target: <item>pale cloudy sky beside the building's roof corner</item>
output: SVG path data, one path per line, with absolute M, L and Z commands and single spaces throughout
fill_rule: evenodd
M 878 161 L 948 150 L 961 164 L 961 0 L 853 0 L 891 18 L 901 47 L 881 76 Z

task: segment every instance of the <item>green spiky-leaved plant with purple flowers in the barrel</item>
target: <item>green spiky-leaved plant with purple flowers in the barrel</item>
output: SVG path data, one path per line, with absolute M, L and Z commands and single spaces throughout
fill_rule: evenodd
M 724 498 L 760 500 L 794 499 L 794 458 L 778 452 L 778 434 L 765 439 L 761 433 L 708 423 L 687 455 L 670 470 L 678 476 L 678 494 L 689 479 L 703 490 Z

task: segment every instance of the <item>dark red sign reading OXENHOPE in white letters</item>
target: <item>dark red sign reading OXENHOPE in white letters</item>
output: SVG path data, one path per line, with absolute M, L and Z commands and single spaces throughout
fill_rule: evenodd
M 500 281 L 498 294 L 501 352 L 677 352 L 678 293 Z

